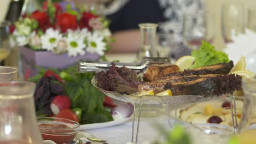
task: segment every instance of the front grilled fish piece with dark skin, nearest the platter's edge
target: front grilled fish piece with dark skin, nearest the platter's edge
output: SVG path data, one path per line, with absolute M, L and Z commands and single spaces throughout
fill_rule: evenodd
M 138 91 L 143 92 L 153 89 L 155 93 L 159 93 L 170 89 L 173 95 L 222 95 L 241 89 L 242 77 L 234 74 L 200 75 L 193 78 L 191 81 L 144 83 L 138 86 Z

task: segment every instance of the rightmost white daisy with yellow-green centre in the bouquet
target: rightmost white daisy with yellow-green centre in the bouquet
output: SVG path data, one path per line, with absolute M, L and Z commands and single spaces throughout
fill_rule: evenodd
M 104 50 L 106 50 L 106 43 L 103 41 L 104 37 L 98 33 L 94 32 L 88 35 L 87 38 L 87 51 L 91 53 L 98 53 L 98 55 L 104 55 Z

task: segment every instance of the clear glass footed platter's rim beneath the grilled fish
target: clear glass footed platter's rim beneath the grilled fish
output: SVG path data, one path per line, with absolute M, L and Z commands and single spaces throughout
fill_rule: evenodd
M 190 104 L 198 103 L 208 100 L 216 100 L 220 97 L 217 95 L 175 95 L 175 96 L 158 96 L 158 95 L 143 95 L 137 97 L 138 93 L 133 93 L 129 95 L 120 94 L 118 92 L 106 91 L 97 85 L 97 80 L 95 77 L 91 80 L 92 85 L 94 85 L 99 91 L 106 94 L 108 97 L 124 101 L 127 103 L 142 103 L 142 104 Z

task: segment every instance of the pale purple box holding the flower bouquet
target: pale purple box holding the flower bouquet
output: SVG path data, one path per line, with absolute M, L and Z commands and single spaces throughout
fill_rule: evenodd
M 67 53 L 55 55 L 53 52 L 33 51 L 27 47 L 19 47 L 18 50 L 21 57 L 22 74 L 29 74 L 29 77 L 37 74 L 36 65 L 44 68 L 63 69 L 75 64 L 77 59 L 97 60 L 100 58 L 96 53 L 86 53 L 83 56 L 69 57 Z

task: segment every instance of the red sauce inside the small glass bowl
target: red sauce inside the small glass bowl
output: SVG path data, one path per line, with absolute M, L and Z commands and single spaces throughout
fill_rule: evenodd
M 42 130 L 42 128 L 51 129 Z M 71 143 L 75 135 L 77 134 L 75 133 L 74 129 L 68 127 L 68 125 L 65 124 L 39 124 L 39 129 L 44 140 L 51 140 L 57 144 Z

